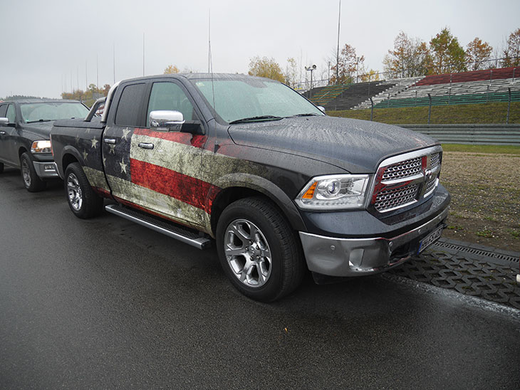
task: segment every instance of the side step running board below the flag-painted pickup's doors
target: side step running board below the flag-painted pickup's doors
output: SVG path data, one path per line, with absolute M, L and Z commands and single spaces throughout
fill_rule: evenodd
M 145 214 L 125 206 L 120 206 L 119 204 L 110 204 L 105 206 L 105 210 L 109 213 L 115 214 L 116 216 L 128 219 L 128 221 L 139 223 L 141 226 L 145 226 L 154 231 L 165 234 L 168 237 L 187 243 L 195 248 L 206 249 L 209 248 L 212 243 L 208 238 L 200 237 L 197 233 L 194 233 L 187 228 L 176 226 L 173 223 L 168 223 L 160 218 L 150 216 L 150 214 Z

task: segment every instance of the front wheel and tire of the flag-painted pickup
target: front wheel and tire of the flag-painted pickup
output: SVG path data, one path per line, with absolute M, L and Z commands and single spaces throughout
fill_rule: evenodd
M 306 270 L 291 226 L 260 198 L 240 199 L 224 209 L 217 223 L 217 252 L 234 287 L 262 302 L 295 290 Z

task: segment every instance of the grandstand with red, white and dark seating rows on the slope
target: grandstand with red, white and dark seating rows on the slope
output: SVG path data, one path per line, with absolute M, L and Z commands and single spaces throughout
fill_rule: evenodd
M 427 75 L 313 89 L 313 102 L 327 110 L 459 105 L 520 101 L 520 67 Z M 316 92 L 315 92 L 316 91 Z M 308 95 L 309 92 L 306 93 Z

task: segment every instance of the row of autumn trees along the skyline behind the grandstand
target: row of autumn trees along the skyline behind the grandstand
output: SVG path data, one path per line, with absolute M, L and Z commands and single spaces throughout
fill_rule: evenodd
M 493 53 L 496 58 L 501 56 L 501 60 L 492 60 Z M 341 48 L 338 56 L 334 50 L 334 56 L 328 58 L 327 62 L 330 65 L 330 68 L 326 67 L 326 70 L 330 69 L 330 84 L 377 81 L 383 78 L 378 70 L 367 69 L 365 56 L 359 56 L 348 43 Z M 520 28 L 509 35 L 505 48 L 494 51 L 489 43 L 479 37 L 474 38 L 464 49 L 459 39 L 445 27 L 429 43 L 420 38 L 411 38 L 401 31 L 395 37 L 393 49 L 383 59 L 383 73 L 386 78 L 407 78 L 519 65 Z M 299 72 L 294 58 L 288 58 L 283 70 L 274 58 L 256 56 L 250 60 L 248 73 L 294 86 L 298 83 Z

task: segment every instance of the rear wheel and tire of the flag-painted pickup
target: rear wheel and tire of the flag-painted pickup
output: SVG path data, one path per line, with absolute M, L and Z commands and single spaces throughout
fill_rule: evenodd
M 78 162 L 65 170 L 65 191 L 68 206 L 78 218 L 91 218 L 103 211 L 103 198 L 95 194 Z

